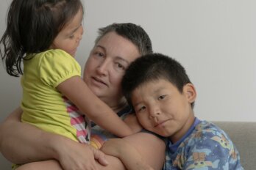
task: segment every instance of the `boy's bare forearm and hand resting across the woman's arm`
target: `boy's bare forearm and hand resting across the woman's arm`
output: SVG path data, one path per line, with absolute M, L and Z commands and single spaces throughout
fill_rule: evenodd
M 124 138 L 112 138 L 105 141 L 101 150 L 107 155 L 119 158 L 128 170 L 152 170 L 152 167 L 143 161 L 138 150 L 132 147 Z

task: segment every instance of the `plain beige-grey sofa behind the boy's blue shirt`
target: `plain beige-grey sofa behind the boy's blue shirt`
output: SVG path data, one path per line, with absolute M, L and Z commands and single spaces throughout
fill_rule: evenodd
M 246 170 L 256 169 L 256 122 L 214 122 L 221 127 L 235 143 Z M 0 169 L 7 170 L 11 163 L 0 155 Z

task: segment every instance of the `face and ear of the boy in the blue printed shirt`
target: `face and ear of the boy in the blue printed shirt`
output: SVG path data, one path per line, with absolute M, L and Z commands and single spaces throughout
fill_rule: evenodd
M 132 105 L 141 125 L 176 142 L 194 121 L 191 103 L 196 98 L 193 84 L 186 84 L 180 93 L 165 79 L 141 84 L 132 92 Z

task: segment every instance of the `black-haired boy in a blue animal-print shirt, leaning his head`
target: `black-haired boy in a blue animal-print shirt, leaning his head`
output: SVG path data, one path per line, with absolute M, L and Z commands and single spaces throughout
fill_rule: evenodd
M 167 137 L 163 169 L 243 169 L 227 134 L 194 116 L 196 89 L 179 62 L 160 53 L 136 59 L 124 75 L 122 88 L 141 125 Z M 126 164 L 137 159 L 132 149 L 118 148 Z

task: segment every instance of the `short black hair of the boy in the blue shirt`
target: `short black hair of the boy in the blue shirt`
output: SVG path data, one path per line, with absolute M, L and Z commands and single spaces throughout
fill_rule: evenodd
M 149 53 L 135 59 L 126 70 L 121 82 L 122 92 L 132 106 L 132 92 L 141 84 L 159 79 L 166 79 L 183 92 L 183 86 L 191 83 L 188 75 L 179 62 L 161 53 Z M 194 103 L 191 104 L 193 107 Z

